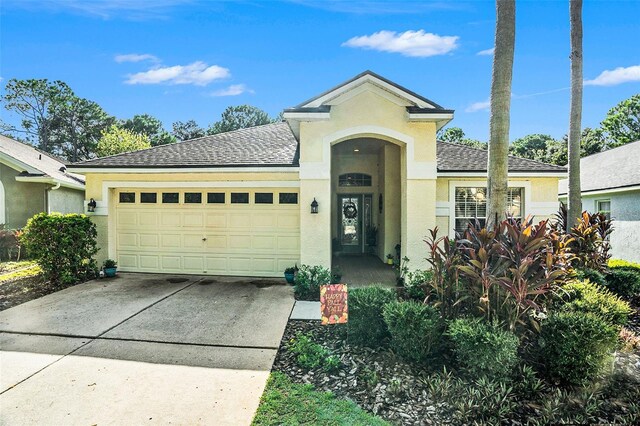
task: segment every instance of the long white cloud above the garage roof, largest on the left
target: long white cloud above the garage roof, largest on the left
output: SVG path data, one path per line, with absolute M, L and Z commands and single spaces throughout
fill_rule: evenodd
M 202 61 L 189 65 L 174 65 L 172 67 L 157 67 L 149 71 L 130 74 L 125 81 L 127 84 L 195 84 L 206 86 L 214 80 L 221 80 L 231 76 L 227 68 L 218 65 L 208 66 Z

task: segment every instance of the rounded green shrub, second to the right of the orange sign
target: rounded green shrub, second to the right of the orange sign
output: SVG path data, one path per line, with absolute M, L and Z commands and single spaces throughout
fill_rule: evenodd
M 391 302 L 383 308 L 384 321 L 396 353 L 409 361 L 426 361 L 438 349 L 442 325 L 438 311 L 422 303 Z

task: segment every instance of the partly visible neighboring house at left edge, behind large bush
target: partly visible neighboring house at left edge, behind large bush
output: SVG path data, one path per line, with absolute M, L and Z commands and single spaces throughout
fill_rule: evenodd
M 84 178 L 56 158 L 0 135 L 0 224 L 22 228 L 36 213 L 84 212 Z

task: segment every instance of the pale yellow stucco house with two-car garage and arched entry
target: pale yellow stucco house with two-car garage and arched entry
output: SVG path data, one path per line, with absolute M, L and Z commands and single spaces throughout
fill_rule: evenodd
M 285 110 L 285 122 L 71 167 L 98 203 L 100 253 L 124 271 L 281 276 L 337 254 L 382 259 L 397 244 L 425 268 L 428 229 L 452 235 L 486 214 L 487 153 L 436 143 L 452 118 L 365 72 Z M 516 216 L 557 210 L 564 168 L 511 157 L 509 171 Z

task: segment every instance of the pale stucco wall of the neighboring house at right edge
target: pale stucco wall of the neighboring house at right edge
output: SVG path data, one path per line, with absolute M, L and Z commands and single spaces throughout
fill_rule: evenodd
M 597 200 L 611 201 L 611 255 L 615 259 L 640 262 L 640 191 L 582 197 L 582 209 L 596 211 Z

